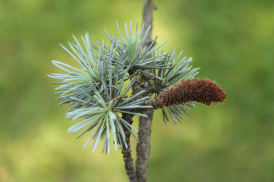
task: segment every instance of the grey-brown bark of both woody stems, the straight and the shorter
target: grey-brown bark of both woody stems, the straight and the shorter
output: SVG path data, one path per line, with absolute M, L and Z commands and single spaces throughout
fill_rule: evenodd
M 147 37 L 145 38 L 145 42 L 143 44 L 143 49 L 146 49 L 150 46 L 151 39 L 151 30 L 152 30 L 152 12 L 155 10 L 155 6 L 153 4 L 153 0 L 145 0 L 144 10 L 143 10 L 143 22 L 144 22 L 144 31 L 150 27 Z M 133 95 L 136 93 L 147 89 L 144 85 L 140 84 L 140 82 L 145 83 L 149 82 L 149 78 L 147 76 L 141 76 L 141 78 L 133 85 Z M 140 86 L 140 85 L 141 86 Z M 140 87 L 139 87 L 140 86 Z M 137 89 L 134 89 L 137 88 Z M 147 91 L 140 97 L 146 97 L 150 95 L 150 92 Z M 132 159 L 132 151 L 130 147 L 130 132 L 124 128 L 125 138 L 127 142 L 127 149 L 124 146 L 122 150 L 123 159 L 125 162 L 125 170 L 127 172 L 127 177 L 129 181 L 147 181 L 147 168 L 149 166 L 149 153 L 150 153 L 150 133 L 151 133 L 151 123 L 153 119 L 153 110 L 146 110 L 142 112 L 148 117 L 140 117 L 139 119 L 139 131 L 138 138 L 139 142 L 136 147 L 136 171 L 134 171 L 133 159 Z M 123 115 L 123 119 L 125 121 L 132 124 L 133 115 Z

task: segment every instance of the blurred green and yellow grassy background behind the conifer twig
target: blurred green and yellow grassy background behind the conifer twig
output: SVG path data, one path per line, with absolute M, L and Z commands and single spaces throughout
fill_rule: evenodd
M 274 181 L 274 1 L 155 0 L 153 36 L 193 57 L 197 77 L 227 91 L 225 104 L 198 105 L 184 123 L 155 112 L 148 181 Z M 0 1 L 0 181 L 127 181 L 121 151 L 67 134 L 67 106 L 47 74 L 72 63 L 67 45 L 142 23 L 143 1 Z M 138 122 L 134 123 L 136 126 Z M 135 151 L 136 142 L 132 141 Z M 135 155 L 135 153 L 134 153 Z

